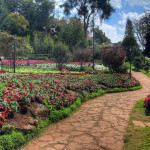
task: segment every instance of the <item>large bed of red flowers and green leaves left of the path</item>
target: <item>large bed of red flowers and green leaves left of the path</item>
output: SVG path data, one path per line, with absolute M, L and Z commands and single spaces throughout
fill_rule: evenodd
M 68 107 L 76 101 L 77 95 L 72 91 L 97 92 L 99 85 L 106 88 L 134 87 L 140 83 L 128 75 L 88 73 L 80 74 L 10 74 L 0 76 L 0 127 L 14 112 L 25 113 L 30 103 L 38 102 L 53 106 L 56 110 Z

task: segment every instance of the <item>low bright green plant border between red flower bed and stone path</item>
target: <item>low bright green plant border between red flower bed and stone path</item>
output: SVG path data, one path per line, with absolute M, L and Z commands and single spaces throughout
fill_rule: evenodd
M 115 92 L 126 92 L 135 91 L 142 88 L 142 85 L 132 88 L 114 88 L 109 90 L 99 89 L 97 93 L 91 93 L 85 97 L 79 96 L 76 101 L 68 108 L 62 107 L 60 110 L 50 109 L 49 118 L 46 120 L 41 120 L 37 127 L 27 134 L 23 135 L 20 131 L 13 131 L 11 135 L 0 136 L 0 150 L 17 150 L 25 146 L 30 140 L 37 137 L 48 125 L 56 123 L 68 116 L 70 116 L 74 111 L 76 111 L 82 104 L 82 102 L 88 101 L 90 99 L 104 95 L 105 93 L 115 93 Z

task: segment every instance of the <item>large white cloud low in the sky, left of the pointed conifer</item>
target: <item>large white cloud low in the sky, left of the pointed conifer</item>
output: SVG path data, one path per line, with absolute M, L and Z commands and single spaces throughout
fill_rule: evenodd
M 119 28 L 117 26 L 111 26 L 103 23 L 100 26 L 100 29 L 105 32 L 105 35 L 111 40 L 112 43 L 117 43 L 123 40 L 124 35 L 118 31 Z

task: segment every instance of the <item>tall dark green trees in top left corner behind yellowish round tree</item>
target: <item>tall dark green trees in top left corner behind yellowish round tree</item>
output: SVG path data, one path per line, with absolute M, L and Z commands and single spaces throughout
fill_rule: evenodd
M 0 25 L 4 24 L 8 14 L 19 13 L 29 22 L 31 42 L 34 31 L 47 29 L 54 14 L 54 2 L 49 0 L 0 0 L 0 6 Z

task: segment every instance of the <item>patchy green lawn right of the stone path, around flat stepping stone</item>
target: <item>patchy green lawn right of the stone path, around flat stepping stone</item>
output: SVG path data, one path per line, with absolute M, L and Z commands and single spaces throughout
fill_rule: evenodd
M 144 99 L 137 102 L 132 110 L 125 134 L 123 150 L 150 150 L 150 127 L 135 126 L 132 121 L 150 122 L 150 116 L 145 115 Z

